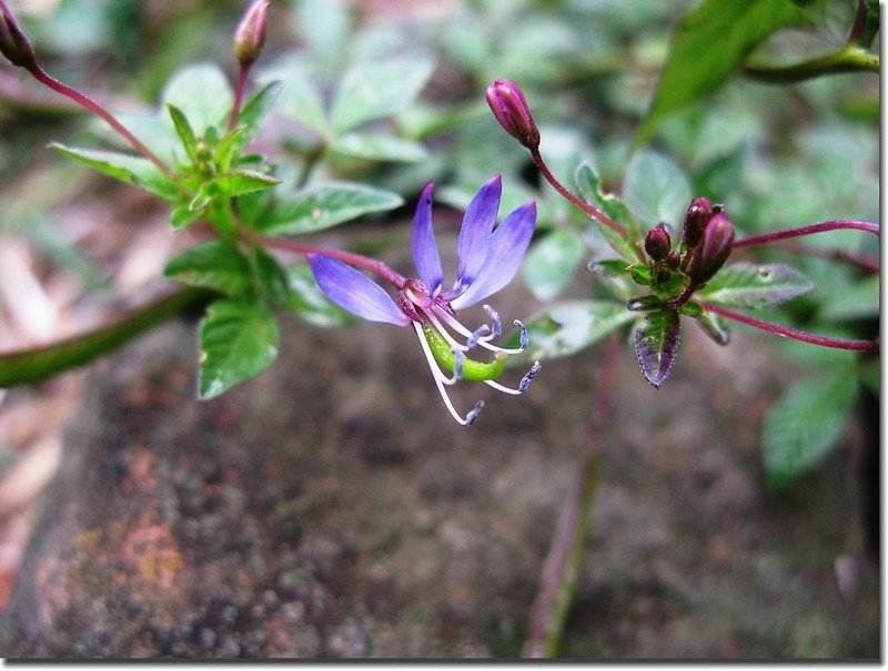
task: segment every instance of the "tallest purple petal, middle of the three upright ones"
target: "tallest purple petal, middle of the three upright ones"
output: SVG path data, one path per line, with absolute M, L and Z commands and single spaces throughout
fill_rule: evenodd
M 503 179 L 500 175 L 484 184 L 477 195 L 472 199 L 463 216 L 463 227 L 460 228 L 460 241 L 456 254 L 460 267 L 456 272 L 456 283 L 451 294 L 458 295 L 472 284 L 484 265 L 487 250 L 491 244 L 491 234 L 496 224 L 496 213 L 500 210 L 500 194 L 503 191 Z

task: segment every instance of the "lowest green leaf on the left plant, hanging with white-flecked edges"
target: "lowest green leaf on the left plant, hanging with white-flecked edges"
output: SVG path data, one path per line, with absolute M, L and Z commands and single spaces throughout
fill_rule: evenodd
M 261 304 L 234 299 L 211 303 L 199 337 L 201 399 L 214 398 L 259 375 L 278 357 L 278 322 Z

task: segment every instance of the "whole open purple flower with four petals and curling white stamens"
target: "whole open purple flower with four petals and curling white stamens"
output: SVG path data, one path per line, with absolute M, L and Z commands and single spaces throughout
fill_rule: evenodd
M 336 305 L 371 322 L 413 326 L 447 409 L 460 424 L 472 424 L 484 401 L 480 400 L 463 417 L 454 408 L 447 386 L 470 379 L 508 394 L 523 394 L 539 372 L 539 363 L 534 363 L 515 389 L 494 382 L 505 367 L 505 358 L 526 348 L 527 329 L 515 321 L 521 329 L 521 347 L 507 349 L 491 343 L 502 335 L 502 325 L 490 305 L 484 305 L 490 325 L 473 331 L 456 318 L 460 309 L 498 292 L 518 272 L 534 232 L 536 205 L 522 205 L 495 226 L 502 180 L 496 175 L 484 184 L 465 211 L 457 242 L 456 279 L 444 289 L 444 271 L 432 228 L 432 190 L 431 183 L 423 190 L 413 220 L 413 261 L 418 277 L 395 277 L 396 298 L 342 261 L 310 254 L 309 263 L 317 285 Z M 466 353 L 475 347 L 493 352 L 494 362 L 470 359 Z

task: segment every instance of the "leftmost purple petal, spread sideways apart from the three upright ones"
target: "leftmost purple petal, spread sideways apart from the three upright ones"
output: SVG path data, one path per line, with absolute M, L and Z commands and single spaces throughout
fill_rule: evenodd
M 343 309 L 371 322 L 387 322 L 396 326 L 410 324 L 410 318 L 384 288 L 349 264 L 310 254 L 309 265 L 321 291 Z

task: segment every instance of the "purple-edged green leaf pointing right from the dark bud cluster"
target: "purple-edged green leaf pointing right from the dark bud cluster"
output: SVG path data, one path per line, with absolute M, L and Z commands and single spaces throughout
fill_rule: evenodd
M 725 266 L 709 281 L 700 297 L 720 305 L 760 309 L 807 294 L 814 284 L 791 266 L 781 263 Z

